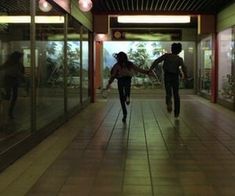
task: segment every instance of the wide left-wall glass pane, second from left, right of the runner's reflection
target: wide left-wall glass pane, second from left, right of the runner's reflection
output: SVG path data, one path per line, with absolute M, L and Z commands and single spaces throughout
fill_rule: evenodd
M 36 17 L 45 16 L 45 12 L 37 10 Z M 49 16 L 52 14 L 61 19 L 61 22 L 51 21 Z M 37 129 L 64 113 L 64 14 L 53 7 L 47 16 L 47 23 L 36 23 Z

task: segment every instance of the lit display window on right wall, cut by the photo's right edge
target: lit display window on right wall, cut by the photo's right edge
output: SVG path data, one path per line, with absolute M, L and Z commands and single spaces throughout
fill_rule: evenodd
M 226 29 L 218 35 L 218 97 L 226 102 L 234 101 L 234 75 L 233 75 L 233 45 L 232 28 Z

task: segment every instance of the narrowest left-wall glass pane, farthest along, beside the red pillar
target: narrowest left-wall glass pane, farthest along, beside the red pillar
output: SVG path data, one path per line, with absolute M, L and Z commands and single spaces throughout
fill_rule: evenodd
M 89 97 L 89 34 L 85 28 L 82 32 L 82 101 L 86 101 Z

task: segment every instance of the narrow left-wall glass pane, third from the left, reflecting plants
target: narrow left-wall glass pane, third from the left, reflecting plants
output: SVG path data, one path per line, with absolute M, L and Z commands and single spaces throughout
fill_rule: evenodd
M 71 16 L 68 19 L 67 43 L 67 92 L 68 110 L 81 104 L 81 62 L 80 62 L 80 31 L 81 25 Z

